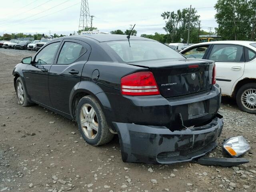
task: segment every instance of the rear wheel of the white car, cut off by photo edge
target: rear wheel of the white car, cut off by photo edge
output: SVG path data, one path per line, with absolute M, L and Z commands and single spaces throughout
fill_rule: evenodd
M 236 103 L 242 111 L 256 114 L 256 83 L 240 87 L 236 94 Z

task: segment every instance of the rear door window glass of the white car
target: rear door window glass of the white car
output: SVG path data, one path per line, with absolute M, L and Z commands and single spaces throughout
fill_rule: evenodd
M 238 45 L 214 45 L 209 60 L 216 62 L 243 62 L 244 48 Z

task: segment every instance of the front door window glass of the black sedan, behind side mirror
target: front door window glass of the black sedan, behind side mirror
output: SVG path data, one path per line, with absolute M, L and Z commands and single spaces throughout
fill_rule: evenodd
M 54 55 L 60 45 L 60 42 L 52 43 L 43 48 L 36 56 L 36 64 L 52 64 Z

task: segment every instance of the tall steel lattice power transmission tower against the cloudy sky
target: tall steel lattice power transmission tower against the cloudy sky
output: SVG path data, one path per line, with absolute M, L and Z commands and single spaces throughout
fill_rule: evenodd
M 84 30 L 84 28 L 88 28 L 88 26 L 90 26 L 90 11 L 88 6 L 88 0 L 82 0 L 78 31 Z

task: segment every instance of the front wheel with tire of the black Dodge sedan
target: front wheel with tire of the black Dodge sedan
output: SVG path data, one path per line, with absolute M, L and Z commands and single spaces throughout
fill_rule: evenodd
M 22 82 L 22 79 L 20 77 L 16 80 L 16 95 L 18 99 L 18 104 L 20 104 L 23 107 L 31 106 L 32 103 L 28 101 L 28 95 L 26 93 L 26 90 L 24 88 L 24 83 Z

